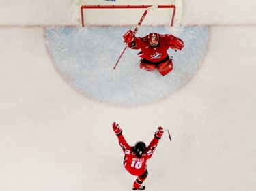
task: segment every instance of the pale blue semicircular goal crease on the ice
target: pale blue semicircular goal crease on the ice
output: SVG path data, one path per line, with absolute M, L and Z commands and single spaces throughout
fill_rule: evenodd
M 122 36 L 130 27 L 49 27 L 46 47 L 64 80 L 86 97 L 118 106 L 137 106 L 169 97 L 197 73 L 206 54 L 208 27 L 141 27 L 137 36 L 151 32 L 172 33 L 185 44 L 182 51 L 169 50 L 174 69 L 162 77 L 139 68 L 139 50 L 122 50 Z

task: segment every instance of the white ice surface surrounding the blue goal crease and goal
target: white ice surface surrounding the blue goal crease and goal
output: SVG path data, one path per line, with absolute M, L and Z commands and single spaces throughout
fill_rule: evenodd
M 255 1 L 184 1 L 175 27 L 210 28 L 201 66 L 135 107 L 90 99 L 59 72 L 45 31 L 76 26 L 71 1 L 0 4 L 0 190 L 131 190 L 113 121 L 130 145 L 171 131 L 148 161 L 147 190 L 256 190 Z

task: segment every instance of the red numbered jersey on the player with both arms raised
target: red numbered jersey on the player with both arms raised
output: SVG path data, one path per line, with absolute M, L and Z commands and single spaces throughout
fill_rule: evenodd
M 154 139 L 152 139 L 152 141 L 150 142 L 150 145 L 147 146 L 145 154 L 142 154 L 140 158 L 136 156 L 134 152 L 134 147 L 128 145 L 122 134 L 118 136 L 118 140 L 119 145 L 122 147 L 122 150 L 125 154 L 124 167 L 126 168 L 126 170 L 132 175 L 143 175 L 143 173 L 145 173 L 145 170 L 147 169 L 147 159 L 152 157 L 152 154 L 156 150 L 159 139 L 154 137 Z

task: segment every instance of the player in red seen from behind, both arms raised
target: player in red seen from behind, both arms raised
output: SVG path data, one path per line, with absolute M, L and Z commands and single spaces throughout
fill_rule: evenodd
M 119 124 L 116 124 L 115 122 L 113 122 L 113 131 L 115 131 L 119 145 L 124 152 L 124 167 L 130 174 L 137 176 L 132 190 L 144 190 L 145 186 L 142 186 L 141 184 L 147 178 L 147 160 L 152 157 L 152 154 L 156 150 L 158 141 L 164 133 L 163 128 L 157 128 L 154 138 L 147 147 L 143 141 L 137 141 L 134 146 L 128 145 L 126 139 L 124 139 L 124 136 L 122 135 L 122 129 Z

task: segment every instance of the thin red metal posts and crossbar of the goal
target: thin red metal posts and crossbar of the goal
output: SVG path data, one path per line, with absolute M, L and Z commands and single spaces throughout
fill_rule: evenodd
M 81 24 L 82 24 L 82 27 L 85 27 L 85 18 L 84 18 L 83 10 L 86 10 L 86 9 L 146 9 L 151 6 L 152 5 L 82 5 L 81 6 Z M 173 26 L 175 11 L 176 11 L 175 5 L 158 5 L 158 8 L 173 9 L 173 14 L 171 16 L 171 26 Z

